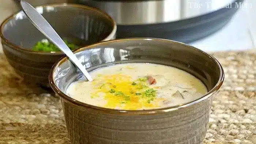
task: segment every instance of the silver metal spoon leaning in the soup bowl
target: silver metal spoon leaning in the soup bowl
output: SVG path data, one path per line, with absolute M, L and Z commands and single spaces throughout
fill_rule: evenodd
M 37 27 L 42 34 L 44 34 L 50 41 L 52 41 L 66 56 L 80 69 L 84 76 L 91 82 L 93 79 L 83 67 L 81 62 L 75 56 L 75 54 L 68 48 L 65 42 L 60 38 L 52 26 L 45 20 L 45 18 L 35 10 L 29 3 L 21 0 L 23 12 L 29 18 L 29 20 Z

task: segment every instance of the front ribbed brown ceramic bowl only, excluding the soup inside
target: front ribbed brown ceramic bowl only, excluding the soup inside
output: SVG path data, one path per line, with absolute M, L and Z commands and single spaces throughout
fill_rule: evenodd
M 151 62 L 173 66 L 200 79 L 208 93 L 177 106 L 154 110 L 114 110 L 88 105 L 65 94 L 72 82 L 85 79 L 68 58 L 52 68 L 49 80 L 61 98 L 74 144 L 200 144 L 206 134 L 212 98 L 224 80 L 219 62 L 183 43 L 153 38 L 100 42 L 75 51 L 90 72 L 110 64 Z M 86 90 L 85 90 L 86 91 Z

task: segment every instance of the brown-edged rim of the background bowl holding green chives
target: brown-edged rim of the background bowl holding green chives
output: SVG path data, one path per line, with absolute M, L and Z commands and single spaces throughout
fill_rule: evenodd
M 39 8 L 39 7 L 42 7 L 42 8 L 45 8 L 45 7 L 75 7 L 75 8 L 82 8 L 84 10 L 90 10 L 90 11 L 95 11 L 97 13 L 100 13 L 102 14 L 102 16 L 105 16 L 111 23 L 112 23 L 112 31 L 111 33 L 108 35 L 108 37 L 104 38 L 103 40 L 101 41 L 107 41 L 107 40 L 110 40 L 111 38 L 114 37 L 114 35 L 116 35 L 116 30 L 117 30 L 117 24 L 116 24 L 116 21 L 110 16 L 108 15 L 106 12 L 104 11 L 101 11 L 99 10 L 98 8 L 94 8 L 94 7 L 89 7 L 87 5 L 81 5 L 81 4 L 71 4 L 71 3 L 52 3 L 52 4 L 42 4 L 42 5 L 37 5 L 35 6 L 34 8 Z M 11 19 L 15 18 L 16 15 L 18 15 L 20 12 L 23 12 L 22 10 L 18 11 L 18 12 L 15 12 L 14 14 L 10 15 L 8 18 L 6 18 L 0 25 L 0 38 L 1 38 L 1 41 L 3 43 L 5 43 L 6 45 L 8 45 L 10 48 L 13 48 L 13 49 L 16 49 L 16 50 L 19 50 L 19 51 L 23 51 L 23 52 L 29 52 L 29 53 L 33 53 L 33 54 L 64 54 L 63 52 L 44 52 L 44 51 L 33 51 L 33 50 L 30 50 L 30 49 L 26 49 L 26 48 L 23 48 L 22 46 L 18 46 L 18 45 L 15 45 L 14 43 L 8 41 L 7 38 L 4 37 L 4 34 L 3 34 L 3 29 L 4 29 L 4 26 L 6 23 L 8 23 Z M 99 41 L 99 42 L 101 42 Z M 75 50 L 72 50 L 72 52 L 74 52 Z

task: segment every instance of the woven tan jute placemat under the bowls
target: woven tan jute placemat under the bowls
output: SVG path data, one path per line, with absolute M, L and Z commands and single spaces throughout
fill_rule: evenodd
M 212 53 L 225 83 L 212 102 L 204 143 L 256 144 L 256 53 Z M 60 99 L 23 83 L 0 54 L 0 143 L 70 143 Z

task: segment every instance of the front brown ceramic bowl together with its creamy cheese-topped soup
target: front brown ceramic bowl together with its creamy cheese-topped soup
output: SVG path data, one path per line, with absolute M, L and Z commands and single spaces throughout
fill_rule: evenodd
M 210 54 L 184 43 L 127 38 L 74 51 L 51 69 L 72 143 L 202 143 L 224 72 Z

